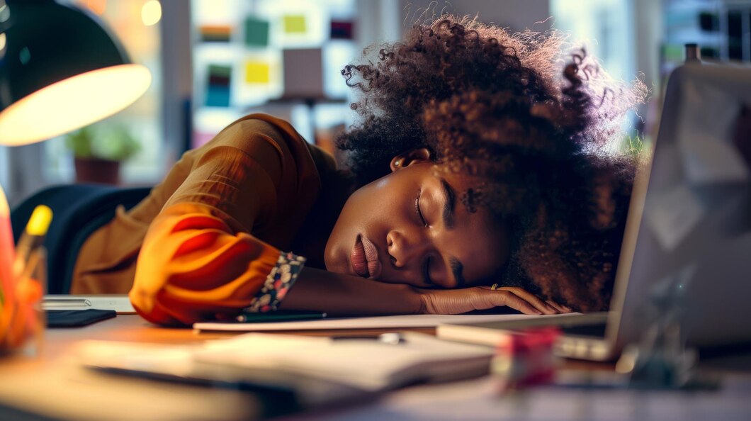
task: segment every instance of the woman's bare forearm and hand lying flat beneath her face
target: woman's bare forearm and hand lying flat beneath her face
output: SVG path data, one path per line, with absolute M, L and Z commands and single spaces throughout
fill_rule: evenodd
M 553 314 L 566 308 L 542 301 L 520 288 L 420 289 L 362 277 L 303 268 L 280 310 L 313 310 L 332 316 L 383 314 L 459 314 L 493 307 L 526 314 Z M 570 311 L 570 309 L 569 309 Z

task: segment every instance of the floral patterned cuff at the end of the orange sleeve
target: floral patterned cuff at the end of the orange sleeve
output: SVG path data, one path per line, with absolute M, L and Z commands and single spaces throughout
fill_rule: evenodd
M 279 253 L 276 265 L 266 277 L 261 291 L 250 301 L 250 305 L 243 308 L 243 313 L 267 313 L 276 311 L 288 290 L 297 280 L 297 275 L 303 270 L 305 258 L 292 253 Z

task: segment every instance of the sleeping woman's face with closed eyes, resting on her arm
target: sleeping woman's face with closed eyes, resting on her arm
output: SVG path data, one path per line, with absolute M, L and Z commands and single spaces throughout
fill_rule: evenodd
M 434 171 L 427 150 L 391 161 L 391 174 L 358 189 L 326 244 L 329 271 L 387 283 L 460 288 L 496 274 L 508 233 L 484 209 L 460 202 L 469 180 Z

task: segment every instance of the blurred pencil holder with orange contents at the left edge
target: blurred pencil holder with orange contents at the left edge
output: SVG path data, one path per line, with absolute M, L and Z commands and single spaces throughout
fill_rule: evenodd
M 10 287 L 0 291 L 0 355 L 37 356 L 41 352 L 45 325 L 41 304 L 47 289 L 46 268 L 47 253 L 43 247 L 38 247 Z

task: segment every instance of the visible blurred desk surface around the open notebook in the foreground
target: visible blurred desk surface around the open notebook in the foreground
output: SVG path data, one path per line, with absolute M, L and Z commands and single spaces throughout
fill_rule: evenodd
M 325 333 L 325 332 L 320 332 Z M 360 332 L 361 334 L 361 332 Z M 337 332 L 339 335 L 339 332 Z M 98 339 L 187 344 L 227 333 L 162 329 L 120 315 L 81 329 L 50 329 L 39 358 L 0 359 L 0 419 L 256 419 L 255 395 L 81 368 L 71 357 L 76 341 Z M 567 363 L 588 375 L 608 365 Z M 499 395 L 490 377 L 415 386 L 378 401 L 295 416 L 305 419 L 751 419 L 751 375 L 729 375 L 721 392 L 635 392 L 545 387 Z M 34 414 L 30 416 L 29 414 Z

